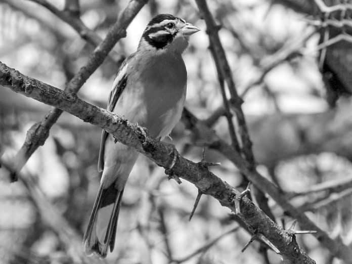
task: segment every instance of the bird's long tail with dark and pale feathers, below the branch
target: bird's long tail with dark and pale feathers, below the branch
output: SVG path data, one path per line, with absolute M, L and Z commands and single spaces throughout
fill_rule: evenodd
M 118 190 L 115 183 L 108 188 L 101 185 L 93 206 L 83 243 L 86 254 L 97 253 L 105 258 L 108 247 L 114 249 L 118 212 L 121 206 L 123 188 Z

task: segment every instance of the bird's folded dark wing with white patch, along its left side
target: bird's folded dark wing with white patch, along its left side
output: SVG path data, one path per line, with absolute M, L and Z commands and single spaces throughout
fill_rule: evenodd
M 120 98 L 123 90 L 126 87 L 127 83 L 127 66 L 128 62 L 130 61 L 131 58 L 133 58 L 134 54 L 130 55 L 127 59 L 123 61 L 121 64 L 114 83 L 112 84 L 112 89 L 109 95 L 109 100 L 108 100 L 108 106 L 107 110 L 112 112 L 116 106 L 116 103 L 118 99 Z M 98 160 L 98 171 L 102 171 L 104 168 L 104 150 L 105 150 L 105 141 L 108 137 L 107 131 L 103 130 L 102 132 L 102 138 L 101 138 L 101 143 L 100 143 L 100 151 L 99 151 L 99 160 Z

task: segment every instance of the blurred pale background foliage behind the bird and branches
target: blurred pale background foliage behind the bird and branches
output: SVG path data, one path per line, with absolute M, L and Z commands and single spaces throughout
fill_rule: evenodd
M 59 9 L 64 5 L 64 1 L 52 3 Z M 327 2 L 334 3 L 339 1 Z M 127 1 L 114 0 L 81 1 L 81 19 L 104 37 L 126 4 Z M 222 24 L 219 36 L 238 92 L 243 95 L 242 107 L 259 171 L 291 194 L 292 203 L 306 211 L 331 237 L 350 244 L 350 189 L 295 194 L 320 183 L 350 177 L 352 108 L 348 96 L 352 82 L 346 70 L 352 68 L 346 53 L 350 43 L 341 41 L 328 47 L 322 61 L 317 45 L 322 43 L 325 29 L 307 22 L 307 18 L 318 15 L 313 4 L 293 0 L 210 0 L 208 4 Z M 159 13 L 177 15 L 204 29 L 192 36 L 184 59 L 189 78 L 186 106 L 198 118 L 206 119 L 223 102 L 208 50 L 205 23 L 193 1 L 150 0 L 114 50 L 123 56 L 135 52 L 145 25 Z M 22 73 L 63 89 L 93 50 L 69 25 L 45 8 L 31 1 L 0 2 L 0 60 Z M 79 96 L 105 107 L 117 69 L 118 65 L 107 58 L 84 84 Z M 3 158 L 11 160 L 23 144 L 28 128 L 49 109 L 8 89 L 0 89 L 0 156 L 4 153 Z M 215 122 L 214 129 L 230 142 L 225 117 Z M 99 186 L 100 133 L 99 128 L 63 114 L 45 145 L 23 169 L 24 175 L 32 175 L 37 191 L 45 195 L 42 199 L 55 208 L 53 215 L 33 202 L 21 182 L 9 184 L 8 173 L 0 170 L 1 263 L 72 263 L 67 241 L 48 224 L 48 219 L 56 217 L 55 213 L 62 215 L 77 238 L 81 238 Z M 202 148 L 197 146 L 200 143 L 182 122 L 171 138 L 182 155 L 194 161 L 201 159 Z M 226 157 L 209 150 L 206 160 L 221 162 L 212 170 L 230 185 L 241 184 L 241 174 Z M 102 262 L 181 262 L 208 241 L 226 234 L 184 263 L 265 263 L 258 252 L 258 242 L 241 252 L 250 235 L 243 229 L 228 232 L 238 224 L 231 212 L 214 199 L 203 196 L 189 222 L 196 195 L 194 186 L 167 181 L 161 168 L 141 156 L 124 192 L 116 249 Z M 285 216 L 272 200 L 269 205 L 277 222 L 288 228 L 293 219 Z M 311 235 L 297 239 L 317 263 L 339 263 Z M 268 254 L 270 263 L 281 261 L 272 251 Z

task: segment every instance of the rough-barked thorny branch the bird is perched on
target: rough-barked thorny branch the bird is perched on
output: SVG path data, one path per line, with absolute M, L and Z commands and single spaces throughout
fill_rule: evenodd
M 135 148 L 159 166 L 168 168 L 173 161 L 174 147 L 172 145 L 153 140 L 148 136 L 145 138 L 138 125 L 131 124 L 120 116 L 86 103 L 75 94 L 27 77 L 5 64 L 0 64 L 0 85 L 42 103 L 58 107 L 86 122 L 104 128 L 117 141 Z M 233 151 L 232 148 L 231 151 Z M 292 234 L 276 225 L 248 198 L 241 198 L 240 192 L 210 172 L 203 164 L 194 163 L 178 155 L 172 171 L 178 177 L 194 184 L 202 193 L 213 196 L 223 206 L 239 212 L 238 216 L 246 223 L 250 231 L 267 237 L 292 263 L 315 263 L 299 249 Z M 247 175 L 253 172 L 245 168 L 244 173 Z M 236 204 L 240 206 L 237 210 Z

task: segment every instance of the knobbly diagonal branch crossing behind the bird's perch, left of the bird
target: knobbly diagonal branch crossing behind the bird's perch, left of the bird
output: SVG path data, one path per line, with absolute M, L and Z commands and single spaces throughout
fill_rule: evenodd
M 128 6 L 121 13 L 117 22 L 110 28 L 105 39 L 91 54 L 88 62 L 81 67 L 74 77 L 67 83 L 65 91 L 69 93 L 78 92 L 84 82 L 103 63 L 104 59 L 115 46 L 116 42 L 126 35 L 127 26 L 146 4 L 146 2 L 147 0 L 131 0 L 128 3 Z M 45 3 L 45 1 L 39 1 L 39 3 Z M 16 170 L 19 171 L 34 151 L 45 143 L 48 138 L 50 128 L 58 120 L 61 114 L 62 110 L 54 108 L 41 120 L 41 122 L 34 124 L 28 130 L 26 140 L 15 158 Z

